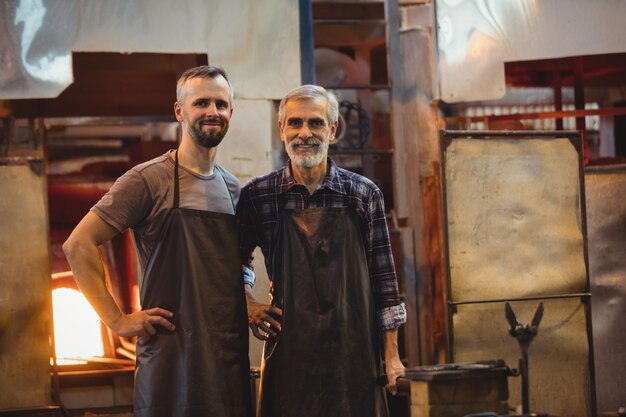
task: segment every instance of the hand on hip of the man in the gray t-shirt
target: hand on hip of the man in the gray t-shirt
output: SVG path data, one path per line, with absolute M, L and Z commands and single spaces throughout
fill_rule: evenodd
M 148 343 L 150 337 L 156 334 L 155 325 L 163 326 L 168 330 L 174 330 L 175 326 L 166 319 L 171 318 L 174 313 L 159 307 L 148 310 L 140 310 L 131 314 L 122 314 L 111 325 L 111 329 L 122 337 L 137 336 L 137 343 L 140 345 Z

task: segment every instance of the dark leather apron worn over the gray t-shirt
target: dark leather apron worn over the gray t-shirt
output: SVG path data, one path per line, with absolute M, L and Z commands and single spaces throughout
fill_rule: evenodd
M 174 207 L 150 255 L 143 309 L 174 313 L 176 330 L 137 345 L 135 417 L 252 415 L 248 327 L 233 215 Z

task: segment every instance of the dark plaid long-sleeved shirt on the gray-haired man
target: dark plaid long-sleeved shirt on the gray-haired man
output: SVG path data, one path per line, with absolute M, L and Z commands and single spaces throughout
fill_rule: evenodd
M 252 268 L 252 252 L 260 246 L 265 266 L 272 270 L 272 235 L 280 207 L 288 210 L 350 207 L 362 220 L 361 233 L 378 327 L 395 329 L 406 321 L 406 310 L 398 294 L 382 192 L 367 178 L 337 167 L 331 159 L 328 167 L 326 177 L 313 195 L 295 182 L 289 161 L 283 168 L 255 178 L 242 188 L 237 205 L 242 264 Z M 250 285 L 254 283 L 251 274 L 244 274 L 244 280 Z

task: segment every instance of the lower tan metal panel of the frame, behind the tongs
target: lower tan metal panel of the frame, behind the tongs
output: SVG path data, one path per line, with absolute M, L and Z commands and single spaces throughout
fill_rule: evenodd
M 519 321 L 530 322 L 537 301 L 512 303 Z M 544 300 L 539 331 L 529 348 L 530 409 L 555 416 L 591 415 L 589 350 L 585 308 L 580 299 Z M 458 306 L 454 361 L 504 359 L 517 368 L 517 340 L 508 333 L 504 303 Z M 521 403 L 520 377 L 509 377 L 509 404 Z

